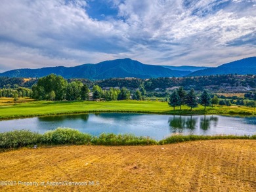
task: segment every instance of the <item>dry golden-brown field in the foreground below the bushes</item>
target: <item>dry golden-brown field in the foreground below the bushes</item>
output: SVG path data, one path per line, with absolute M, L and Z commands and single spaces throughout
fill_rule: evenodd
M 0 179 L 16 182 L 0 191 L 256 191 L 255 140 L 20 149 L 0 163 Z

